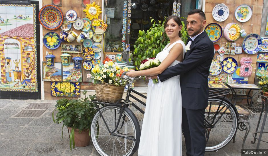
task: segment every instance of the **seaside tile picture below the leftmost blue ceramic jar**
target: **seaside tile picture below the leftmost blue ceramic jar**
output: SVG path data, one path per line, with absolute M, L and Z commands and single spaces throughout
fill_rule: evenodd
M 54 66 L 47 66 L 43 62 L 43 81 L 62 81 L 62 65 L 54 63 Z

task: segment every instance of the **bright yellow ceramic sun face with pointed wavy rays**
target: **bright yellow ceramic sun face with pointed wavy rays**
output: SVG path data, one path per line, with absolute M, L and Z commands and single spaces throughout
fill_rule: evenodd
M 98 19 L 98 16 L 100 16 L 101 9 L 100 6 L 92 3 L 92 4 L 87 4 L 86 9 L 83 10 L 86 12 L 86 17 L 92 20 L 93 18 Z

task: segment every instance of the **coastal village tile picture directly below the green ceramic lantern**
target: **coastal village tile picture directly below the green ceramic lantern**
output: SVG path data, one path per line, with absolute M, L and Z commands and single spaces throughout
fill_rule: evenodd
M 68 66 L 62 66 L 63 82 L 82 82 L 82 69 L 74 68 L 74 63 Z

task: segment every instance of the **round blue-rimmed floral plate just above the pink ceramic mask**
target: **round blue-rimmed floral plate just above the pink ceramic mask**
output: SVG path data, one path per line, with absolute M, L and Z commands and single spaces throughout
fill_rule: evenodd
M 261 49 L 261 37 L 255 33 L 247 35 L 242 47 L 245 53 L 256 54 Z

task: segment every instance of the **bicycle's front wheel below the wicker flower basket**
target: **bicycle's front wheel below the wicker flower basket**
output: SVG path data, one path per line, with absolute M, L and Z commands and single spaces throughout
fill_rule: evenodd
M 105 106 L 100 109 L 93 118 L 91 124 L 91 138 L 95 149 L 100 155 L 120 155 L 128 156 L 133 155 L 139 146 L 139 139 L 141 135 L 141 129 L 139 122 L 134 113 L 125 107 L 123 114 L 119 119 L 120 107 L 117 106 Z M 103 120 L 104 119 L 104 120 Z M 105 122 L 107 126 L 105 125 Z M 114 135 L 110 135 L 117 122 L 119 126 L 113 132 Z

